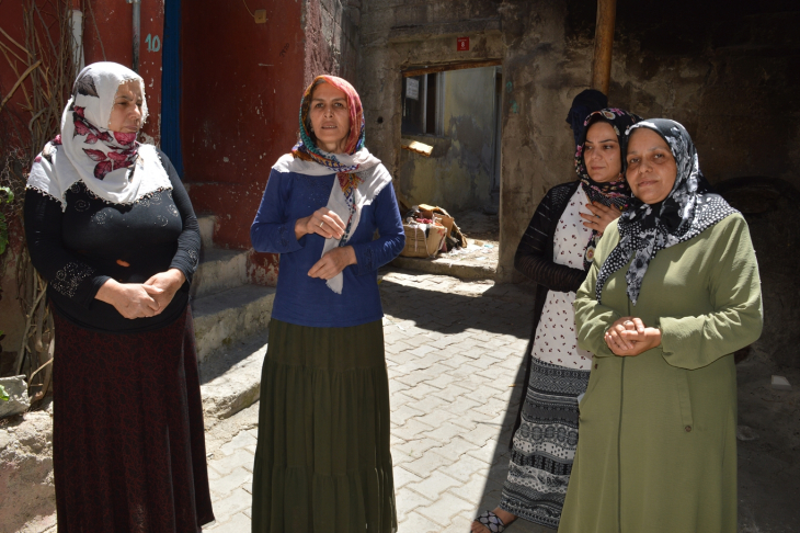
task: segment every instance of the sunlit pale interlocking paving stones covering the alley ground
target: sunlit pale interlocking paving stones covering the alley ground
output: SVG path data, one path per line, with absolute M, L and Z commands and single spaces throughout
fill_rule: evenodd
M 400 271 L 380 291 L 399 531 L 465 533 L 496 506 L 507 473 L 533 291 Z M 250 531 L 255 435 L 243 430 L 209 457 L 208 531 Z M 552 530 L 519 520 L 511 532 Z

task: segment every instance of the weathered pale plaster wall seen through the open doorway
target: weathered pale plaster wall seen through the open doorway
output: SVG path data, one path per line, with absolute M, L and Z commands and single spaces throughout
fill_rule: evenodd
M 444 135 L 403 135 L 434 146 L 432 157 L 400 151 L 397 186 L 411 204 L 450 213 L 487 206 L 494 172 L 494 67 L 443 72 Z

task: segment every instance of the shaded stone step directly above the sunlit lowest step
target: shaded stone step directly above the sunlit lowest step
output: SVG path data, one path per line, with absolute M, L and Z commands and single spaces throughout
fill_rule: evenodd
M 266 331 L 275 288 L 243 285 L 196 298 L 192 303 L 197 359 Z

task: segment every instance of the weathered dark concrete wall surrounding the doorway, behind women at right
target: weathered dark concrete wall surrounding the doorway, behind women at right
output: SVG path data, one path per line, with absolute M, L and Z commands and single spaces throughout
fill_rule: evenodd
M 610 103 L 684 123 L 712 181 L 767 174 L 800 185 L 798 8 L 679 3 L 665 12 L 655 2 L 620 0 Z M 518 279 L 514 251 L 545 192 L 574 179 L 564 117 L 588 87 L 595 13 L 587 0 L 362 7 L 367 144 L 396 177 L 403 175 L 401 70 L 502 59 L 501 281 Z M 469 52 L 457 52 L 460 36 L 470 37 Z

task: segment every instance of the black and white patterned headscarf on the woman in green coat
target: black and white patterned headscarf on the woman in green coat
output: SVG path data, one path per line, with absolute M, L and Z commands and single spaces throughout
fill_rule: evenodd
M 630 137 L 638 127 L 647 127 L 663 137 L 675 158 L 677 175 L 663 202 L 649 205 L 632 199 L 628 211 L 622 213 L 618 223 L 619 243 L 597 274 L 597 302 L 602 302 L 603 285 L 608 276 L 635 254 L 625 279 L 628 297 L 636 305 L 648 265 L 659 250 L 693 239 L 738 213 L 722 196 L 709 192 L 708 181 L 700 171 L 697 149 L 686 128 L 668 118 L 650 118 L 632 125 L 627 136 Z

